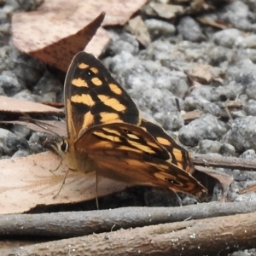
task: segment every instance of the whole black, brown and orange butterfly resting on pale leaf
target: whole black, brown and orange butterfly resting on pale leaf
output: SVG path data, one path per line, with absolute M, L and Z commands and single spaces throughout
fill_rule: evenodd
M 190 174 L 188 151 L 140 117 L 131 96 L 93 55 L 74 56 L 65 104 L 68 137 L 61 150 L 71 170 L 191 195 L 207 192 Z

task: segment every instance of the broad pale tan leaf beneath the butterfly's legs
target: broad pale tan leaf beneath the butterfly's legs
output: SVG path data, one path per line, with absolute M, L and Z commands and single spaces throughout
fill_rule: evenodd
M 0 160 L 0 214 L 26 212 L 38 205 L 55 205 L 88 201 L 96 196 L 95 172 L 67 172 L 67 162 L 53 174 L 60 158 L 52 152 L 33 154 L 24 158 Z M 127 187 L 104 177 L 98 177 L 97 195 L 109 195 Z

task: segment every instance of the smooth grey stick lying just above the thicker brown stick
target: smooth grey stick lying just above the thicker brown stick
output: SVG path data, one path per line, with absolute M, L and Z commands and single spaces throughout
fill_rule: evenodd
M 201 203 L 185 207 L 124 207 L 88 212 L 0 215 L 0 236 L 67 238 L 108 230 L 256 212 L 255 202 Z

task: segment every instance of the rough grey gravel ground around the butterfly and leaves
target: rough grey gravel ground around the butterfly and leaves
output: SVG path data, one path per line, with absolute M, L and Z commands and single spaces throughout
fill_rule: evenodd
M 4 2 L 6 2 L 4 4 Z M 29 56 L 21 55 L 9 42 L 10 17 L 16 10 L 35 9 L 41 1 L 0 1 L 0 95 L 33 102 L 61 102 L 62 84 L 54 73 Z M 22 7 L 22 8 L 21 8 Z M 146 8 L 141 10 L 143 15 Z M 144 16 L 144 15 L 143 15 Z M 254 159 L 256 154 L 256 2 L 230 1 L 205 18 L 223 20 L 232 28 L 223 30 L 202 25 L 193 16 L 183 16 L 170 23 L 157 18 L 145 18 L 150 37 L 147 49 L 137 38 L 123 30 L 109 29 L 113 41 L 102 60 L 113 76 L 137 102 L 144 117 L 160 123 L 191 151 L 201 154 L 222 154 Z M 197 79 L 191 84 L 195 68 L 207 64 L 212 79 Z M 195 81 L 195 79 L 194 79 Z M 193 85 L 193 86 L 192 86 Z M 182 113 L 201 110 L 201 117 L 185 125 Z M 239 103 L 225 111 L 229 102 Z M 230 119 L 230 117 L 232 119 Z M 0 115 L 0 119 L 4 119 Z M 26 156 L 43 150 L 44 135 L 16 125 L 10 130 L 0 128 L 0 156 Z M 255 182 L 253 172 L 219 168 L 232 174 L 230 201 L 256 201 L 254 193 L 239 195 L 238 189 Z M 142 191 L 143 190 L 143 191 Z M 131 194 L 133 193 L 132 197 Z M 142 195 L 143 199 L 136 195 Z M 116 197 L 108 197 L 102 206 L 119 207 L 146 204 L 149 206 L 177 205 L 176 197 L 165 191 L 129 189 Z M 213 190 L 218 198 L 218 186 Z M 181 195 L 184 204 L 193 203 Z M 132 202 L 132 203 L 131 203 Z M 255 255 L 255 250 L 233 253 Z

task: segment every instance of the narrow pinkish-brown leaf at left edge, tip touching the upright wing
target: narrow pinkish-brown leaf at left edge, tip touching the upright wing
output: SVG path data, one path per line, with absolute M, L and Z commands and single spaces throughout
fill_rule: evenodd
M 12 113 L 53 113 L 55 115 L 62 115 L 64 113 L 63 110 L 59 108 L 7 96 L 0 96 L 0 111 Z

